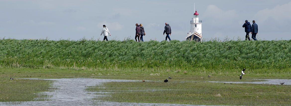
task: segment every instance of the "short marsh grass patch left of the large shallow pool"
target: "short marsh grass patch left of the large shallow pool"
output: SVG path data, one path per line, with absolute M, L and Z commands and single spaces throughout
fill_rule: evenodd
M 0 74 L 1 75 L 1 74 Z M 49 100 L 50 95 L 40 92 L 49 91 L 52 82 L 45 80 L 25 80 L 10 77 L 0 77 L 0 102 L 43 101 Z

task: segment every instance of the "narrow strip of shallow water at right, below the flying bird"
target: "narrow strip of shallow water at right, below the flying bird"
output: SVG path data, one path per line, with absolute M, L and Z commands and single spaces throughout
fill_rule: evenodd
M 291 80 L 289 79 L 254 79 L 254 80 L 266 80 L 258 82 L 221 82 L 221 83 L 249 83 L 249 84 L 276 84 L 280 85 L 280 82 L 285 82 L 284 85 L 291 85 Z M 218 81 L 209 81 L 209 82 L 218 82 Z

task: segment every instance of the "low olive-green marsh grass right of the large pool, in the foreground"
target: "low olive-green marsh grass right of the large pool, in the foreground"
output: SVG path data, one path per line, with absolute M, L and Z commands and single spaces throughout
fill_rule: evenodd
M 166 77 L 166 76 L 163 76 Z M 88 91 L 103 93 L 102 101 L 133 103 L 174 103 L 194 105 L 291 105 L 291 87 L 270 84 L 210 83 L 201 76 L 178 76 L 167 83 L 159 82 L 108 82 Z M 215 76 L 217 77 L 217 76 Z M 214 78 L 230 80 L 237 77 Z M 184 81 L 184 82 L 183 82 Z M 190 82 L 189 82 L 190 81 Z M 96 98 L 100 99 L 100 98 Z

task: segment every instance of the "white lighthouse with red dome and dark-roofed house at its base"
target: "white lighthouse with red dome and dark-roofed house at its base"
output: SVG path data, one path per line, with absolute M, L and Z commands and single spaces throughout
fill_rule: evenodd
M 190 20 L 191 29 L 187 33 L 186 40 L 192 41 L 202 41 L 202 20 L 199 20 L 199 14 L 197 11 L 194 13 L 194 17 Z

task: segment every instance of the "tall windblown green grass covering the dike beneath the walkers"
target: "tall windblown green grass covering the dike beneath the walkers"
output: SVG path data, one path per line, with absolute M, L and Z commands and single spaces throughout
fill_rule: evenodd
M 290 69 L 291 40 L 125 41 L 1 39 L 1 67 Z

